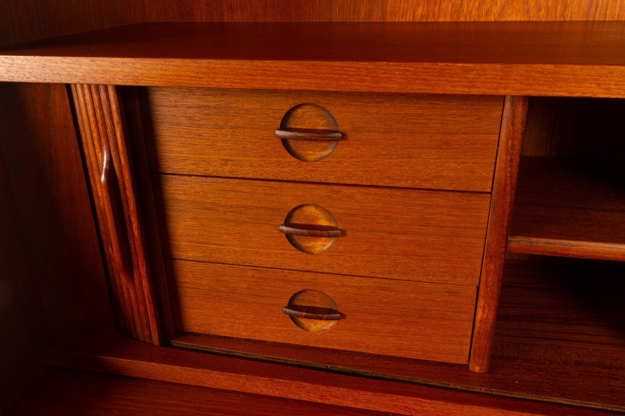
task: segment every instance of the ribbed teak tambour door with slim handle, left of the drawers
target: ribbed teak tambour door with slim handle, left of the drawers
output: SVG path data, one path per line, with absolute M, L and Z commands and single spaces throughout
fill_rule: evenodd
M 135 339 L 158 345 L 158 315 L 135 197 L 128 137 L 116 90 L 111 86 L 73 85 L 72 92 L 91 187 L 97 200 L 118 325 Z M 113 166 L 107 167 L 111 161 Z M 114 174 L 107 176 L 107 169 L 114 169 Z M 129 251 L 124 254 L 125 250 Z M 130 259 L 124 260 L 124 255 Z

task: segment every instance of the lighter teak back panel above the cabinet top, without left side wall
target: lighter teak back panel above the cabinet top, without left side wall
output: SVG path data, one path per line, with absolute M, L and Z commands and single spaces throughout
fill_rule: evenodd
M 608 0 L 237 0 L 152 1 L 147 21 L 504 21 L 625 20 L 625 7 Z

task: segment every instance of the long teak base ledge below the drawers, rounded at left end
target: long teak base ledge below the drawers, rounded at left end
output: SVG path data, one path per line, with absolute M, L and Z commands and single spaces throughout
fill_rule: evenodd
M 59 342 L 47 350 L 46 358 L 49 364 L 63 367 L 407 415 L 602 414 L 589 409 L 167 349 L 116 333 Z

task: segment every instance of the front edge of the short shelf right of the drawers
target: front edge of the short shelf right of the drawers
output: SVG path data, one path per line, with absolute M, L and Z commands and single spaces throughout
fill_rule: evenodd
M 625 245 L 618 243 L 543 239 L 511 235 L 508 237 L 507 250 L 520 254 L 625 261 Z

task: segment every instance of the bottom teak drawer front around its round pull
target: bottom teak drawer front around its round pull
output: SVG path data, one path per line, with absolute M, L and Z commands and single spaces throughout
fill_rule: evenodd
M 168 260 L 176 329 L 466 364 L 476 288 Z M 321 290 L 343 317 L 326 332 L 282 313 L 291 295 Z

